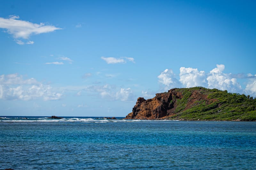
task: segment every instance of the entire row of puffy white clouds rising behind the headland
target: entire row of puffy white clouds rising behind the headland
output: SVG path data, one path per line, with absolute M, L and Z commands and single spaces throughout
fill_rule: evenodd
M 159 76 L 158 81 L 164 85 L 164 89 L 168 90 L 174 87 L 195 87 L 203 86 L 206 88 L 217 88 L 220 90 L 228 90 L 228 92 L 245 93 L 256 95 L 256 75 L 252 74 L 236 74 L 224 73 L 225 65 L 217 64 L 209 73 L 199 71 L 195 68 L 180 67 L 180 80 L 175 78 L 172 70 L 164 70 Z M 249 81 L 245 89 L 237 81 L 237 78 L 247 78 Z

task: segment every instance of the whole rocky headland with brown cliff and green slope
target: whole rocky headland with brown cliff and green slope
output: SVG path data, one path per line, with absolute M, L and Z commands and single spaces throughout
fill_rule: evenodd
M 174 88 L 137 99 L 126 119 L 255 121 L 256 99 L 203 87 Z

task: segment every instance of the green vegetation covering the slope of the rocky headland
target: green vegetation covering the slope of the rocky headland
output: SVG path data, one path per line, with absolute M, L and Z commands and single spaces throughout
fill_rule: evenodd
M 167 119 L 182 120 L 256 120 L 256 98 L 239 93 L 228 93 L 227 90 L 206 89 L 203 87 L 176 89 L 183 97 L 176 100 L 174 115 Z M 207 95 L 207 99 L 193 100 L 192 93 Z M 172 100 L 172 101 L 173 101 Z M 209 100 L 212 102 L 209 103 Z M 171 102 L 172 102 L 171 101 Z M 208 103 L 207 103 L 208 102 Z

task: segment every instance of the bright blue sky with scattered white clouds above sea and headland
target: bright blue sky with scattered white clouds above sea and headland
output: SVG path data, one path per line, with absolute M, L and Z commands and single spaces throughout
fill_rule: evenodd
M 256 97 L 255 1 L 0 1 L 0 115 L 125 116 L 204 86 Z

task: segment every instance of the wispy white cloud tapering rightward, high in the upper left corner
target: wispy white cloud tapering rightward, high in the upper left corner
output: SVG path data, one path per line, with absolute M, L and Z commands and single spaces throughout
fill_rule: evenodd
M 0 17 L 0 28 L 6 29 L 11 34 L 16 43 L 23 45 L 24 42 L 19 39 L 28 39 L 33 34 L 49 33 L 61 28 L 45 25 L 44 23 L 35 24 L 29 21 L 19 20 L 19 16 L 11 15 L 9 18 Z M 27 44 L 33 44 L 34 41 L 28 41 Z

